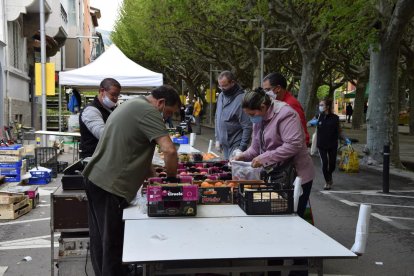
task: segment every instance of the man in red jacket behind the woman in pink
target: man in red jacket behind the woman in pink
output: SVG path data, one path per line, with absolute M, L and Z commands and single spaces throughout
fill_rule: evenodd
M 299 114 L 300 122 L 305 132 L 305 143 L 309 145 L 310 136 L 306 127 L 305 112 L 300 102 L 286 90 L 286 78 L 279 73 L 271 73 L 264 77 L 262 86 L 270 98 L 287 103 Z

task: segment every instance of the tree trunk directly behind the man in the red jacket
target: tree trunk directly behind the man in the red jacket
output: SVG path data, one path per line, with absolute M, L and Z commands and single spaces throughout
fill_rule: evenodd
M 316 98 L 316 86 L 321 68 L 322 58 L 319 51 L 302 52 L 302 75 L 298 101 L 305 110 L 306 120 L 311 119 L 315 114 L 313 104 Z

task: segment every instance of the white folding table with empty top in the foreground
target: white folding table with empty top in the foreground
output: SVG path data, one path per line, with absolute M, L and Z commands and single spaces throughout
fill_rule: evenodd
M 296 215 L 247 216 L 237 205 L 199 205 L 197 217 L 148 218 L 137 209 L 130 207 L 124 211 L 122 260 L 149 265 L 150 275 L 159 263 L 295 258 L 309 259 L 318 274 L 323 275 L 323 259 L 357 257 Z M 303 268 L 287 266 L 282 270 L 293 267 Z M 201 269 L 164 269 L 157 274 L 271 270 L 275 267 L 210 265 Z

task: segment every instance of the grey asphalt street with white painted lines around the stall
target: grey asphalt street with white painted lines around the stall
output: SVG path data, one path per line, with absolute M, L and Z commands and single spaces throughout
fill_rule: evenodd
M 206 151 L 213 136 L 212 129 L 203 128 L 196 147 Z M 407 139 L 412 143 L 412 137 Z M 411 148 L 405 144 L 402 147 Z M 61 158 L 71 160 L 72 155 Z M 325 274 L 414 275 L 414 174 L 391 175 L 391 192 L 382 194 L 378 169 L 363 167 L 357 174 L 337 171 L 333 189 L 324 191 L 320 161 L 316 157 L 313 160 L 317 176 L 311 204 L 316 227 L 351 248 L 358 206 L 372 205 L 367 252 L 358 259 L 325 261 Z M 16 221 L 0 222 L 0 275 L 2 267 L 8 267 L 4 275 L 50 275 L 49 197 L 59 183 L 57 178 L 40 186 L 40 206 L 29 214 Z M 21 261 L 25 256 L 31 256 L 32 261 Z

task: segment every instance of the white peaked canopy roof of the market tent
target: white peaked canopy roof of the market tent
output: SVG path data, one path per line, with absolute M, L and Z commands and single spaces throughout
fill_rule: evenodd
M 122 88 L 156 87 L 163 84 L 162 74 L 148 70 L 127 58 L 112 44 L 92 63 L 59 73 L 59 85 L 99 87 L 105 78 L 114 78 Z

